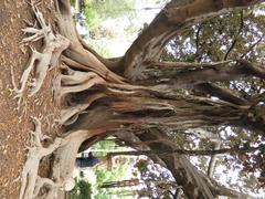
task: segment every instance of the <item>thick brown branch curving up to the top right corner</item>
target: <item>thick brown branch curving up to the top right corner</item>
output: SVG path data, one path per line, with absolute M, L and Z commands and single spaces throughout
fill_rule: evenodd
M 142 71 L 147 61 L 157 61 L 161 50 L 178 31 L 194 24 L 206 17 L 214 17 L 243 8 L 258 1 L 250 0 L 172 0 L 153 19 L 150 25 L 136 39 L 123 59 L 125 75 L 131 80 L 142 77 Z

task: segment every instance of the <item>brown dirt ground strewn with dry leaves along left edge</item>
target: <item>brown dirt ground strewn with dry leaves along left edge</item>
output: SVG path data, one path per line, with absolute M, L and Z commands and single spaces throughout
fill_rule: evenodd
M 25 160 L 25 144 L 29 132 L 33 129 L 31 116 L 41 118 L 43 130 L 47 129 L 47 121 L 59 118 L 59 108 L 52 98 L 52 80 L 56 70 L 47 73 L 41 91 L 26 98 L 22 112 L 18 112 L 17 100 L 13 98 L 11 67 L 15 82 L 19 80 L 30 57 L 28 46 L 20 42 L 25 36 L 21 29 L 26 27 L 23 21 L 34 22 L 34 15 L 28 0 L 1 0 L 0 2 L 0 199 L 15 199 L 19 196 L 20 180 L 15 180 Z M 40 1 L 40 9 L 50 15 L 51 0 Z M 34 46 L 40 49 L 41 43 Z M 55 135 L 56 129 L 47 132 Z

